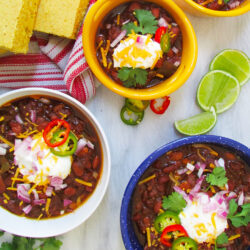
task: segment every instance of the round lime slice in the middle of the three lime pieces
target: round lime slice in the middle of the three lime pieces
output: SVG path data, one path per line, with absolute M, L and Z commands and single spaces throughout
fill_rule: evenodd
M 214 107 L 217 114 L 229 109 L 237 100 L 240 84 L 231 74 L 222 70 L 208 72 L 200 81 L 197 101 L 205 111 Z

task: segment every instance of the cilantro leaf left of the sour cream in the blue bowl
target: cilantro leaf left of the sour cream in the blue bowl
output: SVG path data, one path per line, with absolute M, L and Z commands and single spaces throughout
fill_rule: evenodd
M 165 210 L 171 210 L 176 213 L 180 213 L 187 203 L 184 198 L 177 192 L 173 192 L 168 197 L 164 196 L 162 201 L 162 207 Z

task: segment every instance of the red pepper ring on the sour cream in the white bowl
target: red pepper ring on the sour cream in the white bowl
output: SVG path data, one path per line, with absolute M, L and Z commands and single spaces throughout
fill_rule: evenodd
M 64 129 L 62 129 L 64 128 Z M 55 133 L 61 131 L 60 134 L 57 134 L 55 139 Z M 43 138 L 45 143 L 51 147 L 58 147 L 64 144 L 69 136 L 70 125 L 65 120 L 56 119 L 51 121 L 47 127 L 44 129 Z M 52 140 L 53 139 L 53 140 Z M 53 142 L 52 142 L 53 141 Z

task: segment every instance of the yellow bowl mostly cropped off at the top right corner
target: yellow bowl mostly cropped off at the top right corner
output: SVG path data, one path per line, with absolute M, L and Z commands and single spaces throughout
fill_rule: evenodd
M 228 10 L 211 10 L 195 3 L 193 0 L 174 0 L 183 10 L 195 16 L 216 16 L 216 17 L 230 17 L 239 16 L 250 11 L 250 0 L 245 0 L 239 7 Z

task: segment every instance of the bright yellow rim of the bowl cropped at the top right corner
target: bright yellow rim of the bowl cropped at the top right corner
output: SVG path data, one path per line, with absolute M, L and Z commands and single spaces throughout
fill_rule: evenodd
M 248 11 L 250 11 L 250 0 L 245 0 L 241 5 L 239 5 L 237 8 L 233 10 L 211 10 L 209 8 L 206 8 L 204 6 L 201 6 L 200 4 L 194 2 L 193 0 L 183 0 L 189 5 L 191 5 L 193 8 L 198 10 L 199 12 L 202 12 L 209 16 L 217 16 L 217 17 L 232 17 L 232 16 L 239 16 L 242 15 Z

